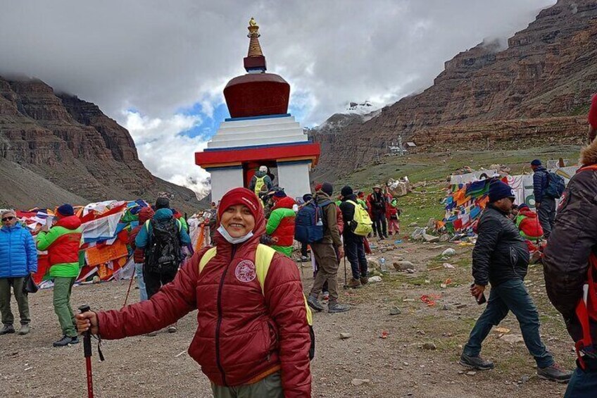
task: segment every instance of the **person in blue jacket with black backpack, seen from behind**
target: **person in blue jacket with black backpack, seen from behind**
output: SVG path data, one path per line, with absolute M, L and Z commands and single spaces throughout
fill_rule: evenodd
M 145 262 L 143 278 L 147 298 L 151 299 L 163 285 L 172 282 L 183 259 L 182 247 L 191 243 L 191 238 L 170 210 L 168 198 L 156 200 L 156 213 L 147 220 L 137 233 L 134 244 L 137 249 L 144 249 Z M 170 325 L 168 332 L 177 331 L 176 325 Z

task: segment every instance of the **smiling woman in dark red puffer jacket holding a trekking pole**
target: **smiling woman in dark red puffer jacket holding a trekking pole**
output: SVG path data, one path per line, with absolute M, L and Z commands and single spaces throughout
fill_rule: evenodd
M 227 192 L 218 220 L 215 256 L 213 249 L 197 252 L 147 301 L 77 315 L 79 332 L 91 328 L 104 339 L 142 335 L 197 309 L 199 325 L 188 351 L 214 397 L 310 397 L 311 339 L 296 265 L 273 254 L 262 290 L 256 253 L 265 218 L 249 189 Z M 210 259 L 201 261 L 206 252 Z

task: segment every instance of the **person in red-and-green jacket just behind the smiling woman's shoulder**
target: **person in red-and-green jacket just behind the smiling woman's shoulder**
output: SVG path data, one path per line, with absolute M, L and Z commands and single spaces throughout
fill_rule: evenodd
M 294 218 L 296 213 L 292 210 L 295 201 L 288 197 L 284 191 L 277 191 L 273 197 L 274 206 L 265 226 L 265 233 L 272 237 L 275 244 L 272 249 L 282 254 L 291 256 L 294 243 Z

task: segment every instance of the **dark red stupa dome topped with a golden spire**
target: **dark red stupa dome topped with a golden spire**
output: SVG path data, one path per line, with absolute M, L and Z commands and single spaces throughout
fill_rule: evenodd
M 284 115 L 288 112 L 290 85 L 281 76 L 265 73 L 265 56 L 259 44 L 259 27 L 249 21 L 249 54 L 244 58 L 246 75 L 234 77 L 224 89 L 232 118 Z

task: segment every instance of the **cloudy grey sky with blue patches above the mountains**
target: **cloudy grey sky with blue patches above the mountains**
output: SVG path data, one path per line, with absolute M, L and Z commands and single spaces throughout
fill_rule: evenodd
M 38 77 L 131 132 L 161 178 L 202 189 L 194 152 L 228 117 L 254 16 L 291 113 L 322 123 L 348 101 L 390 104 L 444 61 L 527 27 L 555 0 L 0 0 L 0 75 Z

